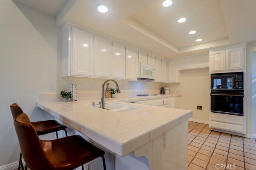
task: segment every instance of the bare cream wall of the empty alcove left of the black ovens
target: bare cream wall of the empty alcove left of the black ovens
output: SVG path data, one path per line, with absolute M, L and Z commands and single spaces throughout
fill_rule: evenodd
M 169 83 L 170 90 L 180 90 L 181 108 L 193 111 L 192 119 L 208 123 L 210 111 L 210 76 L 209 68 L 180 70 L 181 83 Z M 197 110 L 202 106 L 202 111 Z

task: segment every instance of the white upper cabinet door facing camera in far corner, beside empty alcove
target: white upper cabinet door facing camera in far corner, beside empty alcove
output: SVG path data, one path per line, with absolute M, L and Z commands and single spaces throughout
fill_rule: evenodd
M 179 71 L 178 71 L 178 61 L 171 60 L 168 61 L 168 82 L 177 83 L 179 82 Z

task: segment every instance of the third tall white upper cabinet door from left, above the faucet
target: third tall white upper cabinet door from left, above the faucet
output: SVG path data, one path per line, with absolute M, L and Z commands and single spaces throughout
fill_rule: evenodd
M 112 78 L 125 79 L 125 45 L 113 42 Z

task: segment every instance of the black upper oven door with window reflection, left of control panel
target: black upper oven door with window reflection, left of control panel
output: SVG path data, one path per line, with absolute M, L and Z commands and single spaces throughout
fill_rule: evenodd
M 234 74 L 211 74 L 211 89 L 234 89 Z

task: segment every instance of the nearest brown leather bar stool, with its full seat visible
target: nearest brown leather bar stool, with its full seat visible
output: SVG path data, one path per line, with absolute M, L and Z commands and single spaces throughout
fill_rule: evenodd
M 106 170 L 105 152 L 79 135 L 51 141 L 40 140 L 26 113 L 14 119 L 23 158 L 31 170 L 72 170 L 102 157 Z

